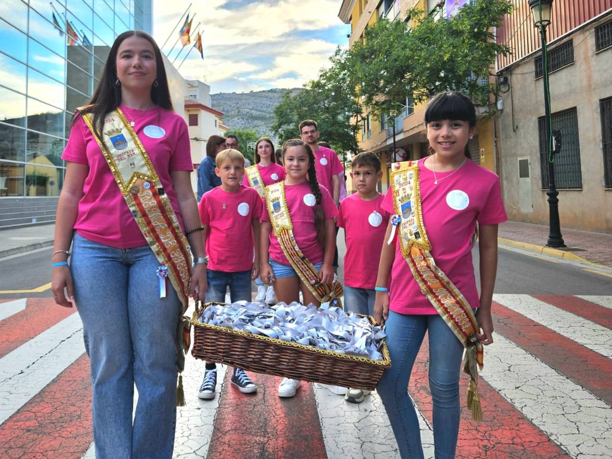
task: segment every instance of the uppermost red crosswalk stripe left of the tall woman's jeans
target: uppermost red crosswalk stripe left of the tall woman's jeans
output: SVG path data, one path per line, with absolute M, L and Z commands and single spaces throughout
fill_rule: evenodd
M 0 357 L 75 312 L 75 308 L 56 305 L 53 298 L 28 298 L 23 311 L 0 321 Z

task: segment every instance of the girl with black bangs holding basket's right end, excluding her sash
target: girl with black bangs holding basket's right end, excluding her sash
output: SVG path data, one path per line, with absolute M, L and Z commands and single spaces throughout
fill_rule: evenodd
M 465 296 L 482 333 L 493 343 L 491 299 L 497 269 L 498 223 L 507 220 L 499 177 L 469 159 L 468 140 L 476 129 L 474 104 L 458 92 L 438 94 L 425 110 L 431 155 L 419 160 L 422 215 L 436 265 Z M 394 214 L 393 193 L 383 209 Z M 472 247 L 480 228 L 480 296 Z M 387 226 L 385 241 L 392 225 Z M 397 241 L 397 237 L 395 238 Z M 390 275 L 391 274 L 391 275 Z M 390 277 L 390 283 L 389 283 Z M 388 291 L 387 291 L 388 288 Z M 402 458 L 422 458 L 419 421 L 406 387 L 425 332 L 429 338 L 429 382 L 433 399 L 436 458 L 455 457 L 460 420 L 459 374 L 463 345 L 419 285 L 403 258 L 399 241 L 384 244 L 376 280 L 375 318 L 386 322 L 393 362 L 378 385 Z

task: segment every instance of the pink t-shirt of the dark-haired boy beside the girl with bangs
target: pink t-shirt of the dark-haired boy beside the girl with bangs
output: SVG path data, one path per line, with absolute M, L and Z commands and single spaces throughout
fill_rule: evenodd
M 384 233 L 390 214 L 381 207 L 384 195 L 364 201 L 359 193 L 340 203 L 338 226 L 345 229 L 345 285 L 374 288 L 378 276 Z

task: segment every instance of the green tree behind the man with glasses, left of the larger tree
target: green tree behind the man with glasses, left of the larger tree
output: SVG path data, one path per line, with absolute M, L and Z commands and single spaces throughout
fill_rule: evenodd
M 361 106 L 355 88 L 350 86 L 350 69 L 345 65 L 344 51 L 338 48 L 330 57 L 332 66 L 322 69 L 317 80 L 309 81 L 299 92 L 287 91 L 274 109 L 272 132 L 281 141 L 299 138 L 299 124 L 313 119 L 318 124 L 321 140 L 338 153 L 359 152 L 356 140 L 357 120 Z

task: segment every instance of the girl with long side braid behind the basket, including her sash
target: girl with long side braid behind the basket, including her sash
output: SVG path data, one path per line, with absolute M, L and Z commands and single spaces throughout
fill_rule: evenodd
M 282 152 L 285 180 L 266 187 L 264 194 L 259 245 L 261 278 L 274 285 L 279 302 L 299 302 L 301 288 L 304 304 L 319 306 L 313 285 L 309 284 L 334 281 L 334 217 L 338 210 L 329 191 L 316 181 L 315 155 L 310 146 L 301 140 L 288 140 Z M 288 227 L 291 230 L 284 229 Z M 305 264 L 314 266 L 318 273 L 317 279 L 308 284 L 300 269 Z M 279 397 L 293 397 L 299 384 L 295 379 L 284 378 L 278 387 Z

